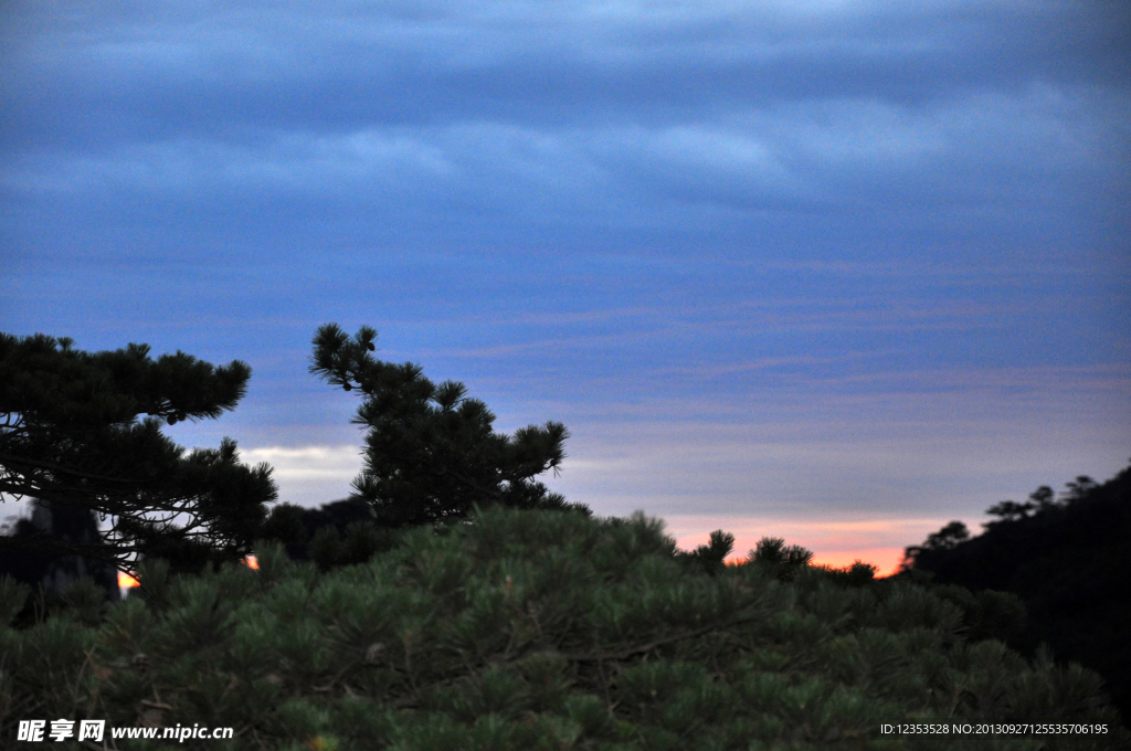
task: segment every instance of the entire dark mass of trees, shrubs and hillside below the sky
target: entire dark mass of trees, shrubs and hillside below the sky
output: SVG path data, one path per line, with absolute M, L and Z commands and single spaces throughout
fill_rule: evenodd
M 354 494 L 311 510 L 268 508 L 270 467 L 233 441 L 162 433 L 234 408 L 245 364 L 0 335 L 0 498 L 37 499 L 0 536 L 0 748 L 1131 748 L 1099 675 L 1037 646 L 1116 655 L 1126 473 L 1003 504 L 973 541 L 951 525 L 903 577 L 776 538 L 731 567 L 722 530 L 681 552 L 658 521 L 550 492 L 564 425 L 498 433 L 463 385 L 377 360 L 375 336 L 314 337 L 310 370 L 361 397 L 365 449 Z M 107 596 L 107 567 L 136 561 L 141 588 Z M 15 740 L 84 718 L 235 736 Z M 953 733 L 978 722 L 1074 732 Z M 880 732 L 907 723 L 948 732 Z

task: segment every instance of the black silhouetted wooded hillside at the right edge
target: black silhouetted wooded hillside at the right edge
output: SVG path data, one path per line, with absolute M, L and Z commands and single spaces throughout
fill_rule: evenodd
M 951 523 L 909 549 L 908 569 L 934 584 L 1016 594 L 1027 618 L 1009 645 L 1026 655 L 1048 645 L 1095 670 L 1131 717 L 1131 467 L 1103 484 L 1077 477 L 1059 498 L 1043 486 L 988 513 L 996 519 L 976 537 Z

